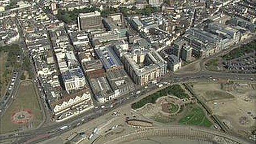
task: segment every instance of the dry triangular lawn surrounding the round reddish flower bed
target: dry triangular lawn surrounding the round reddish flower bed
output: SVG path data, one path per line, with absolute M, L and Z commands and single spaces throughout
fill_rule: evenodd
M 16 94 L 16 99 L 14 100 L 12 105 L 9 106 L 6 113 L 1 119 L 1 134 L 15 131 L 18 129 L 26 129 L 28 126 L 36 128 L 42 122 L 42 110 L 39 105 L 38 94 L 36 93 L 34 83 L 31 81 L 21 82 Z M 15 112 L 23 109 L 31 110 L 33 114 L 31 120 L 28 122 L 28 124 L 14 124 L 11 121 L 11 116 Z

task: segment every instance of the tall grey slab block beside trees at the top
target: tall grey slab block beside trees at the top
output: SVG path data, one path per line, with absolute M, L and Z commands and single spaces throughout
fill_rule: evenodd
M 79 30 L 95 29 L 101 26 L 102 17 L 100 17 L 100 12 L 98 11 L 81 13 L 78 15 L 77 21 Z

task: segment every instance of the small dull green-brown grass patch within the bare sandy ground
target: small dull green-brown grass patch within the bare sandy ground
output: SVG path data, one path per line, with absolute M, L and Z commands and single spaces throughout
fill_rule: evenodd
M 222 92 L 220 90 L 208 90 L 205 92 L 206 101 L 219 100 L 219 99 L 231 99 L 234 96 L 227 92 Z

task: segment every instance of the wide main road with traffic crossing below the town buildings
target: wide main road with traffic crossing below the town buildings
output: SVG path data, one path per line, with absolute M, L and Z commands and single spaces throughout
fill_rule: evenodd
M 202 71 L 198 73 L 190 73 L 190 74 L 167 74 L 162 79 L 159 80 L 160 82 L 170 82 L 170 84 L 177 84 L 177 83 L 188 83 L 188 82 L 201 82 L 201 81 L 216 81 L 217 79 L 230 79 L 233 81 L 252 81 L 252 78 L 255 78 L 255 74 L 236 74 L 236 73 L 215 73 L 209 71 Z M 215 80 L 216 79 L 216 80 Z M 254 81 L 255 82 L 255 81 Z M 118 98 L 115 102 L 114 108 L 110 108 L 110 103 L 106 104 L 106 108 L 108 109 L 93 109 L 88 111 L 87 113 L 81 114 L 75 118 L 63 121 L 63 122 L 56 122 L 49 126 L 41 127 L 40 129 L 36 130 L 29 130 L 24 132 L 17 132 L 16 134 L 5 134 L 0 136 L 0 140 L 8 140 L 12 138 L 18 138 L 18 141 L 14 143 L 24 143 L 28 142 L 29 140 L 33 139 L 34 143 L 45 140 L 45 138 L 55 137 L 61 135 L 63 132 L 73 129 L 77 126 L 78 123 L 86 123 L 90 120 L 98 118 L 101 115 L 109 113 L 115 108 L 122 106 L 124 104 L 134 103 L 136 100 L 139 100 L 147 95 L 156 92 L 164 87 L 158 88 L 156 84 L 151 84 L 148 86 L 147 89 L 136 89 L 141 90 L 140 95 L 125 95 L 124 97 Z M 135 90 L 135 92 L 136 92 Z M 129 97 L 129 99 L 127 99 Z M 60 130 L 62 126 L 68 126 L 65 130 Z M 47 137 L 42 137 L 42 135 L 47 135 Z M 36 139 L 38 137 L 38 139 Z M 29 141 L 32 143 L 32 141 Z

